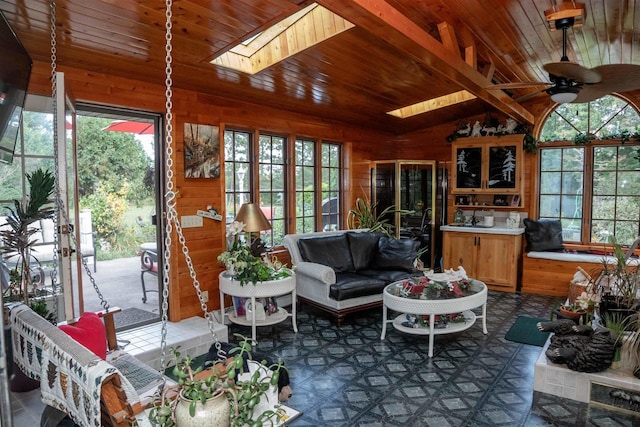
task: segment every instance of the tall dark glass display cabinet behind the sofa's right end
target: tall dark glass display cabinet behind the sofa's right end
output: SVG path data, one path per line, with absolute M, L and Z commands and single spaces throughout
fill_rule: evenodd
M 421 260 L 428 268 L 435 257 L 436 167 L 433 160 L 384 160 L 373 162 L 371 174 L 377 213 L 394 207 L 387 219 L 395 236 L 420 241 Z M 401 215 L 398 210 L 411 212 Z

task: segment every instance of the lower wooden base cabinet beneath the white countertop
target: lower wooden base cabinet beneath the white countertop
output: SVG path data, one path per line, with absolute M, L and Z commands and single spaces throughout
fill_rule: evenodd
M 445 268 L 463 266 L 489 289 L 515 292 L 522 235 L 445 231 Z

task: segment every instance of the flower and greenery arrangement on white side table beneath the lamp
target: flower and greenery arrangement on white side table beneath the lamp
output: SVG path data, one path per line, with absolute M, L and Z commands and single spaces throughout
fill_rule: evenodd
M 241 239 L 244 228 L 245 225 L 239 221 L 229 224 L 227 239 L 230 239 L 230 247 L 218 256 L 218 261 L 227 267 L 233 280 L 244 286 L 291 276 L 291 270 L 277 258 L 269 259 L 266 254 L 255 256 L 252 253 L 251 247 Z

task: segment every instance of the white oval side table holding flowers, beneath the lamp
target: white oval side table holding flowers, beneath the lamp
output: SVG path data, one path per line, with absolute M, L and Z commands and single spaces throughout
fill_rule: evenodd
M 251 307 L 256 306 L 256 298 L 270 298 L 291 294 L 291 313 L 282 307 L 278 307 L 278 312 L 267 316 L 265 320 L 256 320 L 255 310 L 251 311 L 251 320 L 248 320 L 245 316 L 236 316 L 235 313 L 230 313 L 228 316 L 229 320 L 235 324 L 251 326 L 251 338 L 254 340 L 256 339 L 257 326 L 275 325 L 276 323 L 282 322 L 287 317 L 291 317 L 293 332 L 298 332 L 298 324 L 296 323 L 295 273 L 291 277 L 271 280 L 268 282 L 259 282 L 255 285 L 253 283 L 247 283 L 244 286 L 241 286 L 239 281 L 233 280 L 231 276 L 227 275 L 226 271 L 220 273 L 218 278 L 220 280 L 220 317 L 222 319 L 222 324 L 224 324 L 224 317 L 227 315 L 224 310 L 225 294 L 233 297 L 251 298 Z

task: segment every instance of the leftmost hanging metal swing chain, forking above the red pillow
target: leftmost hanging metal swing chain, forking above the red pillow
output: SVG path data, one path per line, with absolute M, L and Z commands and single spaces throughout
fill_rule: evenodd
M 58 163 L 58 79 L 57 79 L 57 33 L 56 33 L 56 2 L 52 1 L 51 2 L 51 96 L 53 98 L 53 155 L 54 155 L 54 182 L 55 182 L 55 192 L 56 192 L 56 197 L 55 197 L 55 203 L 56 203 L 56 209 L 58 210 L 58 212 L 60 213 L 60 215 L 64 218 L 64 222 L 65 224 L 69 224 L 69 216 L 67 215 L 67 211 L 65 209 L 65 205 L 64 205 L 64 201 L 62 200 L 62 197 L 60 195 L 60 165 Z M 54 230 L 58 230 L 58 217 L 57 215 L 53 216 L 53 226 L 54 226 Z M 71 242 L 73 244 L 73 247 L 76 248 L 76 251 L 79 251 L 78 249 L 78 242 L 76 240 L 76 235 L 75 233 L 71 232 L 71 230 L 69 230 L 69 235 L 71 236 Z M 55 291 L 55 287 L 56 287 L 56 282 L 58 281 L 58 251 L 59 251 L 59 244 L 58 244 L 58 233 L 54 234 L 54 239 L 53 239 L 53 269 L 51 271 L 51 286 L 53 291 Z M 95 256 L 95 254 L 94 254 Z M 100 299 L 100 305 L 102 306 L 102 308 L 105 311 L 109 311 L 109 303 L 107 303 L 107 301 L 104 299 L 104 296 L 102 295 L 102 292 L 100 292 L 100 289 L 98 288 L 98 285 L 96 283 L 95 278 L 93 277 L 93 275 L 91 274 L 91 269 L 89 268 L 89 265 L 87 264 L 87 260 L 83 257 L 80 257 L 80 260 L 82 262 L 82 266 L 84 267 L 84 270 L 86 271 L 87 275 L 89 276 L 89 280 L 91 281 L 91 284 L 93 285 L 93 289 L 95 290 L 96 294 L 98 294 L 98 298 Z M 56 313 L 56 317 L 58 315 L 58 299 L 54 298 L 54 310 Z

